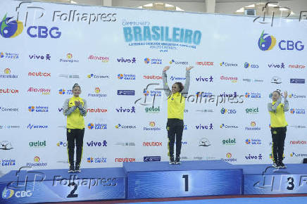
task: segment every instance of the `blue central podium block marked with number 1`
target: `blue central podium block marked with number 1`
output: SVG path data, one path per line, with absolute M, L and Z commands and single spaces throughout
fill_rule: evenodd
M 221 160 L 133 162 L 123 165 L 127 198 L 169 198 L 242 194 L 243 173 Z

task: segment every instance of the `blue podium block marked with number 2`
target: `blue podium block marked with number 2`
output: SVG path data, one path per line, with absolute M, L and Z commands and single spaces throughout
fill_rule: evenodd
M 11 171 L 0 179 L 0 203 L 123 199 L 125 186 L 123 168 Z

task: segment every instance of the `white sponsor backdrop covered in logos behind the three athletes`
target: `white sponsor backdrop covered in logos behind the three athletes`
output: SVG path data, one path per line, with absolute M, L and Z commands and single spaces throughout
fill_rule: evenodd
M 68 168 L 63 102 L 87 100 L 82 167 L 168 160 L 168 85 L 191 72 L 182 160 L 271 162 L 267 103 L 289 93 L 286 163 L 306 146 L 306 22 L 0 3 L 0 172 Z

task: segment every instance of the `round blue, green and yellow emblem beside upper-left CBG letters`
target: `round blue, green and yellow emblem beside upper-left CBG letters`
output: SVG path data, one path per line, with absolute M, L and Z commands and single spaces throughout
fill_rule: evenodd
M 0 22 L 0 35 L 2 37 L 13 38 L 23 32 L 23 23 L 18 20 L 11 20 L 12 18 L 6 17 L 6 15 L 2 18 Z

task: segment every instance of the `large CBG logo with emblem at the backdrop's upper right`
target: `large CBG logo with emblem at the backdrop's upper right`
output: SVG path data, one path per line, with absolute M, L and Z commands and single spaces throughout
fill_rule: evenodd
M 258 39 L 258 47 L 259 49 L 261 49 L 262 51 L 269 51 L 271 49 L 274 48 L 276 44 L 276 38 L 270 34 L 261 33 L 261 36 Z M 296 49 L 297 51 L 302 51 L 304 49 L 304 45 L 303 42 L 301 41 L 293 41 L 293 40 L 280 40 L 280 42 L 278 42 L 278 47 L 280 48 L 280 50 L 289 50 L 292 51 L 294 49 Z

